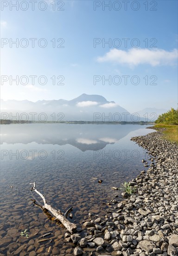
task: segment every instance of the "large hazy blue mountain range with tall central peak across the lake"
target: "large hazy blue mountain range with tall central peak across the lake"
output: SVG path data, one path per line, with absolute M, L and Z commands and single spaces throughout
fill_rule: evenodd
M 0 102 L 1 119 L 25 121 L 144 121 L 132 115 L 114 101 L 107 101 L 101 95 L 82 94 L 70 101 L 59 99 L 51 101 Z

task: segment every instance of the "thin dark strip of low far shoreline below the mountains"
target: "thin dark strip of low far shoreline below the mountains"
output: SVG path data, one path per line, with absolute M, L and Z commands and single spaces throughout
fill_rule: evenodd
M 11 121 L 11 120 L 0 120 L 0 124 L 29 124 L 29 123 L 65 123 L 65 124 L 155 124 L 154 122 L 145 121 Z

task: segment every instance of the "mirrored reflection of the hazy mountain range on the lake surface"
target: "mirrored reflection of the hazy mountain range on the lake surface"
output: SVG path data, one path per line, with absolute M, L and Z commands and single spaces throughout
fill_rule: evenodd
M 145 126 L 144 126 L 145 127 Z M 140 125 L 32 123 L 1 125 L 0 143 L 66 145 L 83 152 L 100 150 L 114 144 Z

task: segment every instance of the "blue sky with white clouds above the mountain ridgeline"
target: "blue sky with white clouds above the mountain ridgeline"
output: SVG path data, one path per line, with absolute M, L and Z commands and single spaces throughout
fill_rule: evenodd
M 15 2 L 19 10 L 12 7 Z M 86 93 L 130 112 L 177 108 L 176 0 L 128 1 L 127 8 L 126 1 L 48 0 L 41 6 L 32 1 L 34 11 L 24 2 L 1 1 L 2 99 L 71 100 Z M 19 47 L 11 45 L 17 38 Z M 111 44 L 104 44 L 109 39 Z M 11 81 L 17 75 L 19 85 Z M 20 81 L 24 76 L 27 84 Z M 40 76 L 46 80 L 38 82 Z M 57 85 L 60 81 L 64 85 Z

